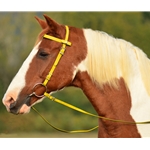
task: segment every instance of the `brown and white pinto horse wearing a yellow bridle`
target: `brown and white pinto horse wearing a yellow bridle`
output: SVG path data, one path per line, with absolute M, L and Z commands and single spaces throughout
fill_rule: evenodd
M 42 31 L 2 99 L 7 111 L 29 113 L 44 93 L 74 86 L 99 116 L 133 122 L 99 118 L 98 137 L 149 137 L 150 124 L 137 123 L 150 120 L 147 55 L 103 31 L 65 26 L 47 15 L 35 18 Z

